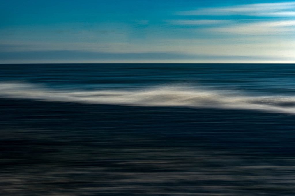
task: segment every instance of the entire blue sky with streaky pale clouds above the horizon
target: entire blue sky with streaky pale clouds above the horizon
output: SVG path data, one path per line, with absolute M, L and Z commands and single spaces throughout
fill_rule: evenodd
M 0 1 L 0 63 L 295 63 L 295 1 Z

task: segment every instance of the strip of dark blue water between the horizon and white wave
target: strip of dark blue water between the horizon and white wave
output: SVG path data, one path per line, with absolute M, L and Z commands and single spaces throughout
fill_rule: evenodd
M 189 83 L 294 93 L 294 64 L 2 64 L 1 81 L 55 88 L 130 88 Z

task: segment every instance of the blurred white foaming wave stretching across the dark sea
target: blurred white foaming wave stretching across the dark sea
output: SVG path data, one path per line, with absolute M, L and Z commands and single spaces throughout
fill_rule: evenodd
M 140 90 L 67 91 L 52 90 L 29 83 L 2 82 L 0 97 L 89 104 L 186 106 L 295 113 L 295 96 L 249 96 L 241 91 L 208 90 L 204 87 L 165 86 Z

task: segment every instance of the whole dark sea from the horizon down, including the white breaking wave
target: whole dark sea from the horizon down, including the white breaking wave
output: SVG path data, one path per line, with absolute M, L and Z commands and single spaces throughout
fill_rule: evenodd
M 295 195 L 295 65 L 0 65 L 1 195 Z

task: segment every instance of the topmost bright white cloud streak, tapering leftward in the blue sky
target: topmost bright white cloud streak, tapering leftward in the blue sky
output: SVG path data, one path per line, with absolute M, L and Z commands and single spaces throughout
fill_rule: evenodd
M 248 15 L 248 16 L 295 16 L 295 2 L 259 3 L 217 8 L 202 8 L 190 11 L 180 11 L 178 15 Z

